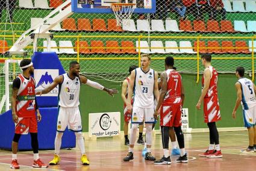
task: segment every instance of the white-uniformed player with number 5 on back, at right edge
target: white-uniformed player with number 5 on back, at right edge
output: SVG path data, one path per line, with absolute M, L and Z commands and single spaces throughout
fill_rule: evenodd
M 236 76 L 239 78 L 235 84 L 237 90 L 237 101 L 232 117 L 234 119 L 236 118 L 236 111 L 241 103 L 243 107 L 243 121 L 245 123 L 245 127 L 248 129 L 249 135 L 249 146 L 241 152 L 254 152 L 256 150 L 256 87 L 251 79 L 243 77 L 244 74 L 245 68 L 237 67 Z

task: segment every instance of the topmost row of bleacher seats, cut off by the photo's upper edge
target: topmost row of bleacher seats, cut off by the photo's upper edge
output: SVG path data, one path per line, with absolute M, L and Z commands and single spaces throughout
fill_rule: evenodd
M 255 1 L 222 1 L 224 8 L 227 12 L 256 12 L 256 2 Z M 49 5 L 47 0 L 19 0 L 20 8 L 40 8 L 40 9 L 52 9 L 57 8 L 63 3 L 62 0 L 50 0 Z M 232 3 L 232 5 L 231 5 Z

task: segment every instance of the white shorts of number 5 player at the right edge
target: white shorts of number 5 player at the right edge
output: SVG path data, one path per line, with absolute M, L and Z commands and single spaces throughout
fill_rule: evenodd
M 243 110 L 243 123 L 245 127 L 254 126 L 256 122 L 256 105 L 249 107 L 249 110 Z

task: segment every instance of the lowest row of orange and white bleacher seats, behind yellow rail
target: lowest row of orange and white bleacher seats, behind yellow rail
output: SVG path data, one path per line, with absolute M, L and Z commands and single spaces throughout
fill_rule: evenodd
M 196 54 L 197 42 L 192 43 L 190 41 L 165 41 L 165 46 L 161 41 L 151 41 L 150 47 L 147 41 L 140 41 L 140 52 L 151 53 L 151 54 Z M 178 46 L 178 43 L 180 46 Z M 248 54 L 252 52 L 252 41 L 249 40 L 248 45 L 245 41 L 238 40 L 235 42 L 235 46 L 232 41 L 223 40 L 221 43 L 218 41 L 208 41 L 207 45 L 205 41 L 199 41 L 199 53 L 231 53 L 231 54 Z M 221 45 L 221 46 L 220 46 Z M 47 42 L 43 41 L 44 52 L 46 49 Z M 4 48 L 5 47 L 5 48 Z M 59 47 L 59 49 L 57 48 Z M 80 54 L 137 54 L 139 52 L 139 42 L 136 41 L 136 48 L 132 41 L 121 41 L 120 46 L 117 41 L 106 41 L 92 40 L 90 46 L 87 41 L 75 42 L 75 47 L 72 42 L 59 41 L 59 46 L 55 41 L 51 41 L 51 51 L 57 54 L 77 54 L 77 48 L 79 47 Z M 179 48 L 180 47 L 180 48 Z M 5 40 L 0 40 L 0 53 L 8 51 L 8 45 Z M 256 52 L 256 41 L 254 41 L 254 52 Z

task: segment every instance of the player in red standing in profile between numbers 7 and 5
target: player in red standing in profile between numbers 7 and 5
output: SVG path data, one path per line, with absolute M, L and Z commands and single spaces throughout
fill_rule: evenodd
M 207 123 L 210 131 L 210 146 L 207 151 L 200 154 L 201 157 L 221 158 L 222 153 L 219 145 L 219 132 L 216 122 L 220 120 L 219 99 L 217 96 L 217 70 L 211 66 L 211 54 L 202 54 L 202 65 L 205 67 L 202 78 L 202 93 L 196 108 L 201 109 L 201 102 L 204 100 L 204 122 Z M 215 145 L 215 149 L 214 149 Z

